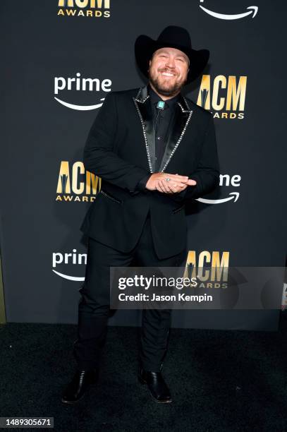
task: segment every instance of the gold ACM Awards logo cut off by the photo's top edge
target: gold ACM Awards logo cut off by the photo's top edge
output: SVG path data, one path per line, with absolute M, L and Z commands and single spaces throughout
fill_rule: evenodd
M 90 16 L 109 18 L 110 0 L 59 0 L 58 16 Z

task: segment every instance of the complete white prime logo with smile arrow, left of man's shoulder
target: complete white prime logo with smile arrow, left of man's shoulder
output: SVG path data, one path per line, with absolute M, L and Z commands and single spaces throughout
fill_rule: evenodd
M 90 111 L 102 107 L 104 97 L 97 98 L 97 103 L 93 104 L 75 104 L 69 101 L 70 95 L 67 92 L 73 92 L 73 97 L 77 97 L 77 92 L 110 92 L 111 80 L 105 78 L 81 78 L 80 72 L 75 74 L 75 78 L 64 78 L 63 76 L 56 76 L 54 78 L 54 100 L 59 104 L 70 109 L 77 109 L 78 111 Z M 63 96 L 58 97 L 59 92 L 63 92 Z M 67 97 L 68 100 L 63 100 Z

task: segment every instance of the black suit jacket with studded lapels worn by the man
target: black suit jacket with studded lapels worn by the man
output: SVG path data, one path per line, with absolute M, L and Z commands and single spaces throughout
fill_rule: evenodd
M 186 200 L 202 197 L 219 180 L 212 114 L 183 95 L 176 107 L 159 171 L 197 181 L 181 193 L 142 190 L 140 181 L 154 172 L 154 127 L 147 87 L 110 92 L 92 124 L 84 150 L 85 169 L 102 178 L 100 193 L 80 229 L 107 246 L 129 252 L 150 210 L 159 258 L 183 251 Z

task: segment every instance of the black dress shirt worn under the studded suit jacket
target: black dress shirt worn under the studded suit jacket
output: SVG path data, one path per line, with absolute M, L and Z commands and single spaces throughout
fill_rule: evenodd
M 150 85 L 147 85 L 149 92 L 149 103 L 152 104 L 152 117 L 154 121 L 154 138 L 155 138 L 155 172 L 159 172 L 164 150 L 166 149 L 167 138 L 170 128 L 173 127 L 173 116 L 176 112 L 176 102 L 178 95 L 169 100 L 165 100 L 164 109 L 157 108 L 157 103 L 163 101 Z M 152 174 L 147 174 L 138 182 L 138 189 L 145 191 L 145 185 Z

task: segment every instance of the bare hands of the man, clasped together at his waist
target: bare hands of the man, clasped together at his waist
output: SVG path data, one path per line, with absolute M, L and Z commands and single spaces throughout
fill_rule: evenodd
M 166 179 L 170 180 L 166 181 Z M 188 186 L 195 186 L 195 184 L 196 181 L 188 179 L 188 176 L 157 172 L 149 177 L 145 187 L 149 189 L 149 191 L 177 193 L 184 191 Z

